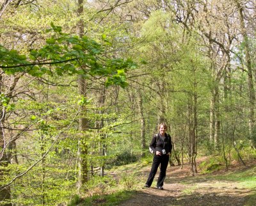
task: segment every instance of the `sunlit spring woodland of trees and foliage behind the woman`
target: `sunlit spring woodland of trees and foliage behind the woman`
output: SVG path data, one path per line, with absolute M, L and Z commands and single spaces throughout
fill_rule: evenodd
M 161 122 L 193 174 L 255 159 L 255 26 L 254 0 L 1 0 L 0 205 L 88 194 Z

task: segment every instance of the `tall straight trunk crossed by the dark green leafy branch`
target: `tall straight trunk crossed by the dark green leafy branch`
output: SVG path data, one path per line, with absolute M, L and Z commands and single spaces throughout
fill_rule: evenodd
M 77 16 L 81 18 L 77 25 L 77 33 L 81 38 L 84 35 L 84 24 L 83 24 L 83 0 L 77 1 Z M 86 99 L 86 80 L 82 75 L 78 77 L 78 90 L 79 95 Z M 79 131 L 80 136 L 78 140 L 78 151 L 77 151 L 77 164 L 78 164 L 78 180 L 77 180 L 77 191 L 78 193 L 81 192 L 81 187 L 88 182 L 88 148 L 86 146 L 86 136 L 84 135 L 84 131 L 86 131 L 88 127 L 88 120 L 86 119 L 86 106 L 82 106 L 81 113 L 79 118 Z

